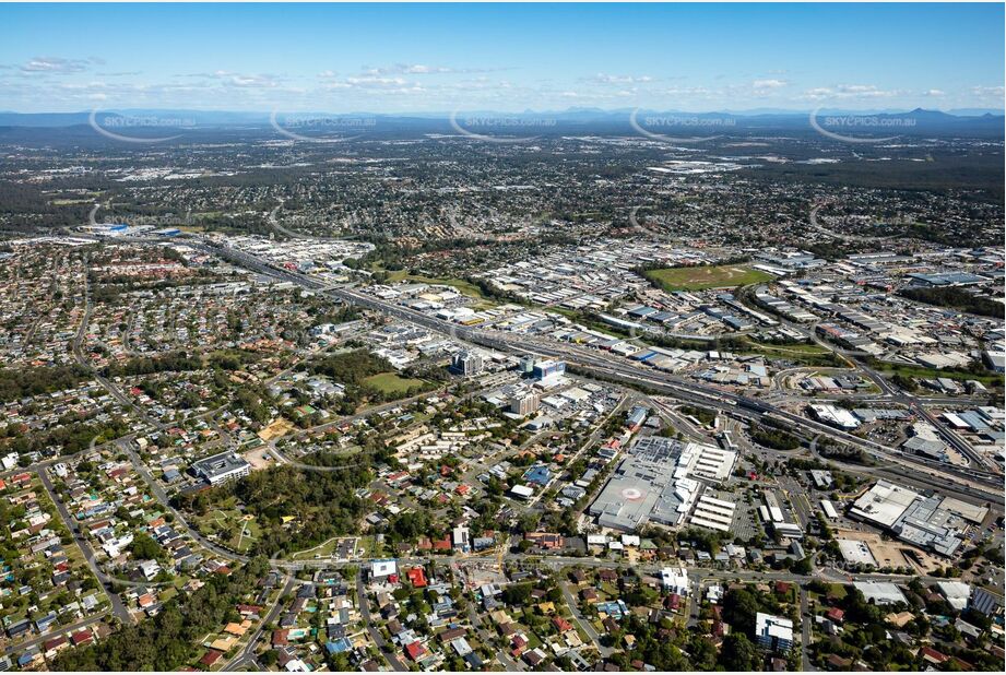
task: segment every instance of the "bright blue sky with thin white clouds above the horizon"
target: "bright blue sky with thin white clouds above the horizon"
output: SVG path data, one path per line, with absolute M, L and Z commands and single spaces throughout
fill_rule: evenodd
M 0 109 L 1003 107 L 1002 4 L 0 4 Z

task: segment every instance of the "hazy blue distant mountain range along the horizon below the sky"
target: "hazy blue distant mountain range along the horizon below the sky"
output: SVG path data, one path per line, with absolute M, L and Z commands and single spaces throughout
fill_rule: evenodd
M 967 112 L 967 114 L 966 114 Z M 810 117 L 814 116 L 812 120 Z M 267 111 L 190 110 L 128 108 L 80 112 L 0 112 L 0 138 L 11 140 L 79 139 L 99 134 L 91 128 L 92 116 L 102 135 L 175 137 L 191 140 L 191 134 L 244 134 L 268 132 L 273 114 Z M 836 119 L 845 118 L 845 119 Z M 864 118 L 868 118 L 865 119 Z M 310 120 L 316 120 L 311 122 Z M 810 110 L 754 109 L 743 111 L 689 112 L 623 108 L 569 108 L 566 110 L 464 110 L 458 112 L 276 112 L 281 133 L 306 135 L 352 135 L 414 138 L 422 134 L 500 135 L 746 135 L 814 133 L 827 130 L 837 134 L 865 137 L 966 137 L 1004 138 L 1002 110 Z M 326 122 L 317 120 L 328 120 Z M 344 120 L 345 123 L 334 123 Z M 353 121 L 350 121 L 353 120 Z M 888 121 L 889 120 L 889 121 Z M 910 121 L 907 121 L 910 120 Z

